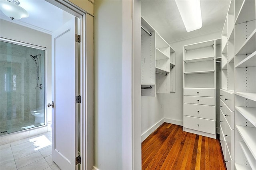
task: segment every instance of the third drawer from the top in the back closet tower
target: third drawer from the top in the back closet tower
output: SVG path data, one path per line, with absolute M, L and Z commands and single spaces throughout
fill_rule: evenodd
M 184 103 L 184 115 L 215 120 L 215 106 Z

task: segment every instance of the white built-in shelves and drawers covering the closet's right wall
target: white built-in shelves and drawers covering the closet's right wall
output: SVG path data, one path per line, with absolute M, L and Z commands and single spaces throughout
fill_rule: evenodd
M 222 31 L 220 143 L 228 170 L 256 170 L 255 16 L 255 0 L 231 0 Z

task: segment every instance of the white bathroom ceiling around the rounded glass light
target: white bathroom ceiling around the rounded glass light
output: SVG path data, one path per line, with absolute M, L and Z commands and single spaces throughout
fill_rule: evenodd
M 57 8 L 45 0 L 19 0 L 20 6 L 28 11 L 28 18 L 11 20 L 4 13 L 0 13 L 0 19 L 17 23 L 38 31 L 51 34 L 72 17 L 71 14 Z

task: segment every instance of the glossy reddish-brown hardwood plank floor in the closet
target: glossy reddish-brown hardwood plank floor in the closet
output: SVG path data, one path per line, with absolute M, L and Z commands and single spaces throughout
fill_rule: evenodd
M 142 142 L 142 170 L 226 170 L 220 142 L 163 123 Z

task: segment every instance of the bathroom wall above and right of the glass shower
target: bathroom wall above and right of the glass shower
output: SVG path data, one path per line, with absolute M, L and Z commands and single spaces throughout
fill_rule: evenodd
M 29 43 L 33 45 L 38 45 L 41 47 L 46 47 L 46 101 L 52 101 L 52 40 L 51 35 L 17 25 L 5 20 L 0 20 L 0 36 L 7 39 L 12 39 L 24 43 Z M 47 108 L 47 122 L 52 121 L 52 108 Z

